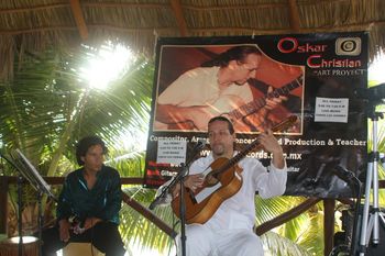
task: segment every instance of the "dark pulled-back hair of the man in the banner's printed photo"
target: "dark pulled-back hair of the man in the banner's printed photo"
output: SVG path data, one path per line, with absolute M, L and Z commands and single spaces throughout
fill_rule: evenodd
M 240 45 L 232 48 L 229 48 L 224 53 L 221 53 L 216 58 L 202 63 L 201 67 L 227 67 L 231 60 L 240 60 L 241 63 L 250 55 L 257 54 L 261 55 L 261 51 L 253 45 Z

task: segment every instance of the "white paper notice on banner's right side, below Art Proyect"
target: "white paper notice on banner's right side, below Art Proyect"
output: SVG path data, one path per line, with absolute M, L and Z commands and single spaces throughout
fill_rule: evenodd
M 349 99 L 316 98 L 315 122 L 348 123 Z

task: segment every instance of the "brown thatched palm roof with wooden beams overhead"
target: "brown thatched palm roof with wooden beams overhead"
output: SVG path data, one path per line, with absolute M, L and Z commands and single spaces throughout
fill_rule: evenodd
M 14 53 L 119 38 L 152 54 L 158 36 L 369 31 L 385 46 L 384 0 L 1 0 L 0 76 Z

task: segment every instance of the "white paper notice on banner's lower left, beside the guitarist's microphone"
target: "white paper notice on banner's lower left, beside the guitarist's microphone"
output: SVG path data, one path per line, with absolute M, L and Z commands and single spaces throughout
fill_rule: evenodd
M 156 163 L 179 165 L 186 162 L 187 142 L 158 140 Z

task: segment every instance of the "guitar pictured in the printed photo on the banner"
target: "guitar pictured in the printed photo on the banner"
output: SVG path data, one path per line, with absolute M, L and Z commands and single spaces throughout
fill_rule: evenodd
M 231 120 L 234 127 L 239 132 L 248 132 L 255 130 L 248 116 L 256 113 L 266 104 L 266 99 L 278 98 L 280 96 L 288 96 L 289 92 L 302 85 L 302 75 L 298 76 L 296 79 L 286 84 L 285 86 L 268 92 L 265 97 L 256 98 L 250 102 L 244 102 L 240 97 L 233 94 L 221 96 L 211 105 L 208 105 L 205 114 L 196 116 L 198 120 L 206 120 L 207 122 L 217 115 L 223 115 Z M 205 122 L 205 123 L 207 123 Z M 194 121 L 167 123 L 168 130 L 197 130 Z

